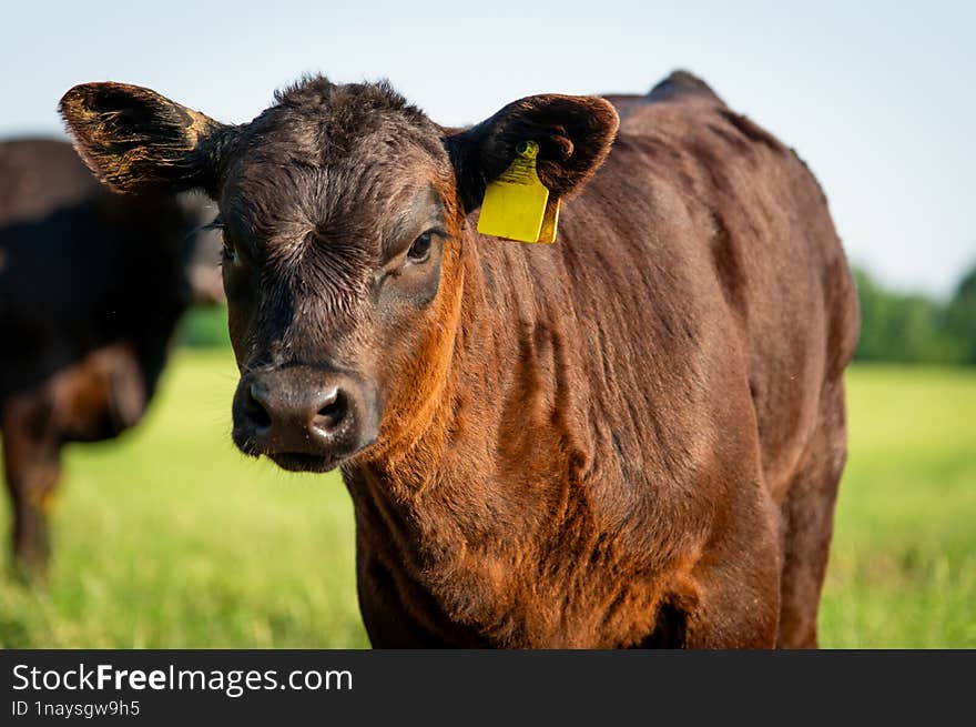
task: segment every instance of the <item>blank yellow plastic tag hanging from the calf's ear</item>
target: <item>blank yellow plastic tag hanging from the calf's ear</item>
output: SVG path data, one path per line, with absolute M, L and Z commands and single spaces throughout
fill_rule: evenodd
M 501 175 L 485 189 L 478 232 L 519 242 L 555 242 L 559 200 L 539 181 L 539 144 L 523 141 Z

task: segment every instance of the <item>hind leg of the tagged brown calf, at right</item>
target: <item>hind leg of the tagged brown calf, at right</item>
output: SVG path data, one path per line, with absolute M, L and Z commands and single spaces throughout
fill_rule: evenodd
M 847 454 L 844 384 L 824 387 L 817 430 L 783 502 L 780 648 L 816 648 L 816 617 Z

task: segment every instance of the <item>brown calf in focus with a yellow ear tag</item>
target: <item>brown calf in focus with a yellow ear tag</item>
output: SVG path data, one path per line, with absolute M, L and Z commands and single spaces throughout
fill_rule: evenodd
M 323 78 L 241 127 L 62 100 L 109 184 L 217 201 L 234 441 L 342 468 L 376 646 L 816 644 L 857 331 L 824 195 L 689 74 L 626 101 L 618 133 L 600 98 L 454 130 Z M 475 232 L 525 141 L 555 245 Z

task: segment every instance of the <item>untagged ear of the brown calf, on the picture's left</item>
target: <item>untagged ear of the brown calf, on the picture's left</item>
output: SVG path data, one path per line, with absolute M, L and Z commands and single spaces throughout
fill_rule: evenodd
M 126 83 L 75 85 L 58 108 L 85 164 L 112 189 L 213 195 L 232 127 Z

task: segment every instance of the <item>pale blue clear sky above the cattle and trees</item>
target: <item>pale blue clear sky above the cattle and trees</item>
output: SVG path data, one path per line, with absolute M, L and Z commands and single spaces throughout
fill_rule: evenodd
M 642 92 L 688 68 L 807 161 L 852 261 L 936 295 L 976 263 L 976 2 L 11 4 L 2 137 L 61 133 L 57 101 L 84 81 L 242 122 L 302 73 L 389 78 L 464 124 L 530 93 Z

